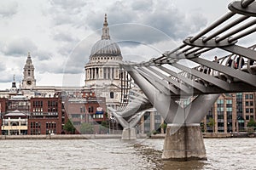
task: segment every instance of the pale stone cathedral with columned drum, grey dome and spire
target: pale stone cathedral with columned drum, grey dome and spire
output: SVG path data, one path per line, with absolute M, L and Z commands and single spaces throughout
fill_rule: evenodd
M 109 35 L 107 14 L 102 28 L 102 39 L 90 51 L 85 68 L 85 90 L 92 90 L 97 96 L 106 98 L 106 105 L 115 109 L 121 98 L 119 62 L 123 57 L 119 45 Z

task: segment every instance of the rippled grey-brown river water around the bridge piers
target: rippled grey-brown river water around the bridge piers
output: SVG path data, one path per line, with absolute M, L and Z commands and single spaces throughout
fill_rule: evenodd
M 204 139 L 207 161 L 162 161 L 164 139 L 1 140 L 0 169 L 256 169 L 256 139 Z

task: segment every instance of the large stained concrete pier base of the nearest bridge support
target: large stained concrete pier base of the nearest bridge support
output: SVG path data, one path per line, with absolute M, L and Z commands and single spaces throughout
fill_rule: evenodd
M 207 160 L 200 124 L 168 124 L 162 158 L 170 161 Z

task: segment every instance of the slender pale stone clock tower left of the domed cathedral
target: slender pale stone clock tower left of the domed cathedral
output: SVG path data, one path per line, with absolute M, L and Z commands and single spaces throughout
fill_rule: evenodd
M 34 65 L 32 65 L 32 59 L 28 52 L 26 58 L 26 64 L 23 68 L 23 80 L 22 88 L 34 88 L 36 86 L 36 79 L 34 77 Z

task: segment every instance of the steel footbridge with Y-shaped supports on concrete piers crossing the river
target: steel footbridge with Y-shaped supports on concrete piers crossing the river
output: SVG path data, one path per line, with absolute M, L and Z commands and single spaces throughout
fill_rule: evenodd
M 154 108 L 167 122 L 163 159 L 207 159 L 200 122 L 219 94 L 256 91 L 256 45 L 237 44 L 243 37 L 253 43 L 256 2 L 234 1 L 228 8 L 227 14 L 160 57 L 120 63 L 123 103 L 118 111 L 109 109 L 124 127 L 122 139 L 136 139 L 134 127 Z M 204 57 L 216 48 L 229 54 Z

